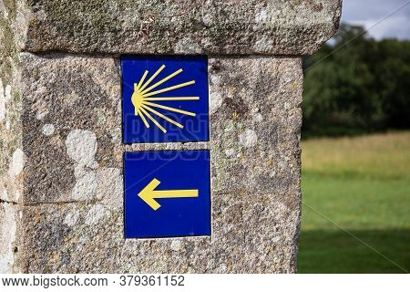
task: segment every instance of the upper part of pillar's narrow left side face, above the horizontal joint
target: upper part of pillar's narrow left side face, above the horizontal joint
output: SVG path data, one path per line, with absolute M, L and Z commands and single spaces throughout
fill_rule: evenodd
M 18 199 L 24 164 L 16 9 L 14 1 L 0 1 L 0 196 L 5 202 Z

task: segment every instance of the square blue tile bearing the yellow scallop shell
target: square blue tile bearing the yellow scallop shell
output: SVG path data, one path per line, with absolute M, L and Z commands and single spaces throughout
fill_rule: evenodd
M 125 143 L 209 141 L 208 59 L 121 58 Z

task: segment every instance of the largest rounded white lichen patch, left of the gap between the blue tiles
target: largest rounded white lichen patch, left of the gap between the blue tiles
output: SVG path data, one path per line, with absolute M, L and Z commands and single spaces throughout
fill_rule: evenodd
M 85 168 L 97 168 L 97 137 L 90 130 L 72 130 L 66 140 L 67 154 L 76 163 L 74 173 L 81 177 Z

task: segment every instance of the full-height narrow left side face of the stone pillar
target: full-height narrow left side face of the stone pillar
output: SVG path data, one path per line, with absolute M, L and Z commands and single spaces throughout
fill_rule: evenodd
M 16 27 L 21 18 L 18 1 L 0 0 L 0 273 L 19 271 L 17 216 L 23 193 L 25 155 L 22 144 L 20 70 Z M 24 18 L 24 17 L 23 17 Z

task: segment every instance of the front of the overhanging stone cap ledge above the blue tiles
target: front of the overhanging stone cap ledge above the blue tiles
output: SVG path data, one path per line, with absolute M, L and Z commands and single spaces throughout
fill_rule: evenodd
M 7 1 L 13 2 L 13 1 Z M 25 0 L 28 51 L 311 54 L 341 0 Z

